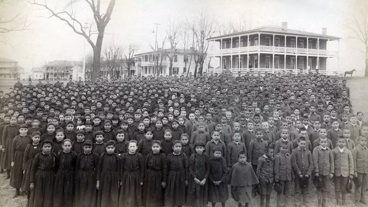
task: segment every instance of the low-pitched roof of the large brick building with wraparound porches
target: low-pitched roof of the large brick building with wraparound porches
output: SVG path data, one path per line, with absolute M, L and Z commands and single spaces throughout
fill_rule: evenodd
M 279 33 L 279 34 L 303 35 L 303 36 L 313 36 L 313 37 L 319 37 L 319 38 L 341 39 L 340 37 L 336 37 L 336 36 L 322 35 L 318 33 L 305 32 L 305 31 L 300 31 L 300 30 L 295 30 L 295 29 L 282 29 L 281 27 L 261 27 L 261 28 L 255 28 L 255 29 L 251 29 L 251 30 L 247 30 L 243 32 L 234 32 L 234 33 L 230 33 L 227 35 L 215 36 L 212 38 L 208 38 L 207 40 L 213 40 L 213 39 L 217 39 L 221 37 L 234 36 L 234 35 L 243 35 L 243 34 L 248 34 L 248 33 L 253 33 L 253 32 L 272 32 L 272 33 Z

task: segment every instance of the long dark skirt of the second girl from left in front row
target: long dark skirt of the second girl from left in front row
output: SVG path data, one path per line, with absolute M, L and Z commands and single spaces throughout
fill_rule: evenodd
M 59 170 L 56 172 L 53 207 L 73 206 L 74 171 Z

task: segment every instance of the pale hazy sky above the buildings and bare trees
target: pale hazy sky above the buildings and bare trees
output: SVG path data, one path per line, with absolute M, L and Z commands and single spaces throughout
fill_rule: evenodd
M 0 57 L 18 61 L 26 71 L 40 67 L 53 60 L 82 60 L 84 38 L 49 11 L 27 4 L 25 0 L 8 0 L 11 3 L 0 7 L 4 18 L 20 17 L 30 24 L 26 31 L 17 31 L 8 35 L 8 43 L 0 42 Z M 45 0 L 36 0 L 36 2 Z M 60 11 L 70 0 L 47 0 L 50 7 Z M 102 0 L 103 9 L 109 0 Z M 91 9 L 85 0 L 72 4 L 81 22 L 93 22 Z M 106 27 L 104 45 L 111 42 L 127 48 L 130 43 L 139 45 L 139 53 L 150 50 L 149 43 L 157 39 L 160 42 L 166 35 L 169 19 L 185 22 L 205 12 L 212 17 L 217 28 L 222 23 L 237 21 L 241 18 L 251 22 L 252 28 L 265 25 L 281 26 L 288 22 L 288 28 L 308 32 L 338 36 L 340 40 L 340 71 L 357 70 L 364 75 L 364 54 L 357 49 L 364 46 L 352 38 L 347 29 L 351 24 L 351 15 L 356 12 L 352 0 L 116 0 L 112 19 Z M 93 28 L 93 27 L 92 27 Z M 330 50 L 337 50 L 337 42 L 331 43 Z M 86 42 L 85 53 L 92 48 Z M 337 61 L 331 61 L 337 70 Z

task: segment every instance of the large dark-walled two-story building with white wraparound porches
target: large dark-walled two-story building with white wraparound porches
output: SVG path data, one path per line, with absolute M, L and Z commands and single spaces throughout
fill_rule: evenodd
M 231 34 L 209 38 L 213 48 L 208 57 L 217 59 L 219 69 L 208 69 L 208 72 L 247 73 L 261 71 L 277 73 L 283 70 L 308 71 L 319 69 L 321 74 L 332 74 L 338 68 L 329 66 L 329 61 L 339 65 L 339 40 L 341 38 L 322 34 L 299 31 L 282 27 L 261 27 L 248 31 L 234 31 Z M 329 48 L 334 44 L 335 49 Z M 337 44 L 336 44 L 337 43 Z

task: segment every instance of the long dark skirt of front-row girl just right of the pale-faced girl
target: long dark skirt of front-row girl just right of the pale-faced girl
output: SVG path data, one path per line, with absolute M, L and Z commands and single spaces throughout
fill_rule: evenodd
M 142 205 L 145 207 L 163 207 L 164 188 L 162 171 L 147 170 L 146 178 L 143 183 Z

